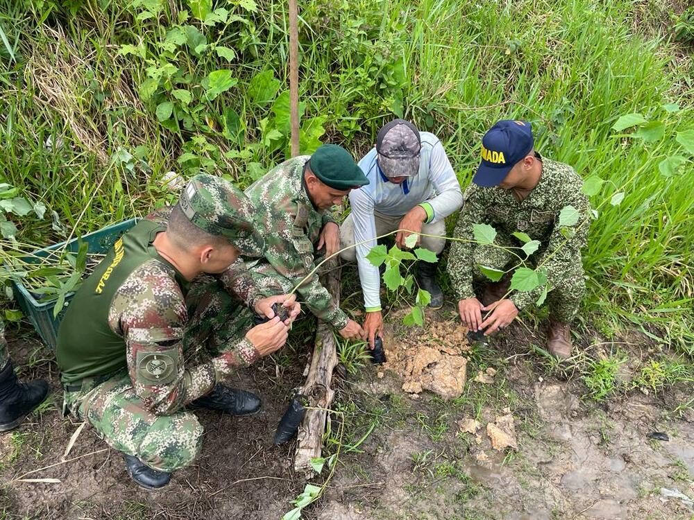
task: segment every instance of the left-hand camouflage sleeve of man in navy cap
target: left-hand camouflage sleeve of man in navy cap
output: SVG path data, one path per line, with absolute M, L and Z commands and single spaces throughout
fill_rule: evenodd
M 452 241 L 448 253 L 448 275 L 450 284 L 458 300 L 467 300 L 475 297 L 473 289 L 473 252 L 475 243 L 473 236 L 473 224 L 484 222 L 486 216 L 486 198 L 484 192 L 475 184 L 471 184 L 464 193 L 463 208 L 460 210 L 458 222 L 453 231 L 455 239 L 470 242 Z

